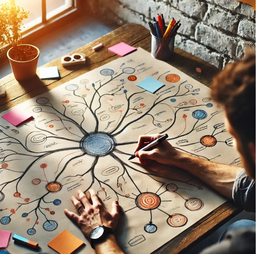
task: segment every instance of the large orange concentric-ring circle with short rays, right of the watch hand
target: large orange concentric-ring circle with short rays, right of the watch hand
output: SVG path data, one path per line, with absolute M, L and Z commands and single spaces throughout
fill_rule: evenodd
M 136 197 L 135 203 L 142 210 L 152 210 L 159 207 L 161 199 L 155 193 L 144 192 Z

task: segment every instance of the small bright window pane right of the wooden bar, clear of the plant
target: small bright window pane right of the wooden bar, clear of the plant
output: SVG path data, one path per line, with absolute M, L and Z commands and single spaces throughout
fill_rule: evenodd
M 46 0 L 46 18 L 57 15 L 58 13 L 72 7 L 72 0 Z

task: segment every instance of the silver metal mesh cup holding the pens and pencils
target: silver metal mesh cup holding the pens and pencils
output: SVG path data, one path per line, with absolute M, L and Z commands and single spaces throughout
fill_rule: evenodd
M 176 34 L 170 38 L 158 38 L 151 33 L 151 56 L 159 60 L 172 58 L 175 36 Z

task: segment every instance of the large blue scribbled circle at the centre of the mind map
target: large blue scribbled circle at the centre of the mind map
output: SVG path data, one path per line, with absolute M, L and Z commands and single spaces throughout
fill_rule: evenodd
M 89 133 L 80 142 L 81 150 L 91 156 L 105 156 L 115 148 L 115 139 L 106 132 Z

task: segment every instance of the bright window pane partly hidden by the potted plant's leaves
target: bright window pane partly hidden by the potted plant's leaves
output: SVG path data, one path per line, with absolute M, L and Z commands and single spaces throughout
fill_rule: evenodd
M 31 12 L 28 14 L 28 18 L 23 20 L 25 29 L 42 22 L 41 0 L 15 0 L 15 4 L 23 7 L 25 11 Z

